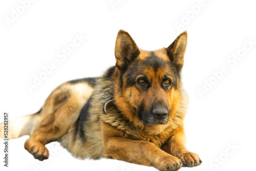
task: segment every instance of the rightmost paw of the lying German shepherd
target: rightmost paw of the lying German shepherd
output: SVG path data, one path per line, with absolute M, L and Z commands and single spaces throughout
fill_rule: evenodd
M 179 158 L 182 161 L 183 167 L 195 167 L 202 163 L 202 160 L 195 153 L 185 152 L 182 153 Z

